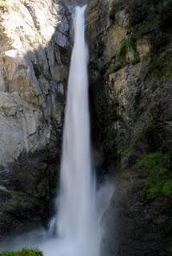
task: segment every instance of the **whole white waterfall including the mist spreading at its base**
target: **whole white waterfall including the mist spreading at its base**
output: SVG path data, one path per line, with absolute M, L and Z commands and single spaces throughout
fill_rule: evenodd
M 91 163 L 88 97 L 88 49 L 85 42 L 86 6 L 76 7 L 74 48 L 66 98 L 57 216 L 50 230 L 16 238 L 14 249 L 37 247 L 49 256 L 99 256 L 102 216 L 114 187 L 106 182 L 96 189 Z M 56 234 L 56 235 L 53 235 Z

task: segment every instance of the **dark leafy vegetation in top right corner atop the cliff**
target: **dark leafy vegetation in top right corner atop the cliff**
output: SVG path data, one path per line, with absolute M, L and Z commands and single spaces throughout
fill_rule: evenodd
M 172 68 L 172 0 L 131 0 L 127 4 L 127 12 L 135 39 L 147 36 L 150 40 L 149 74 L 156 78 L 169 78 Z

